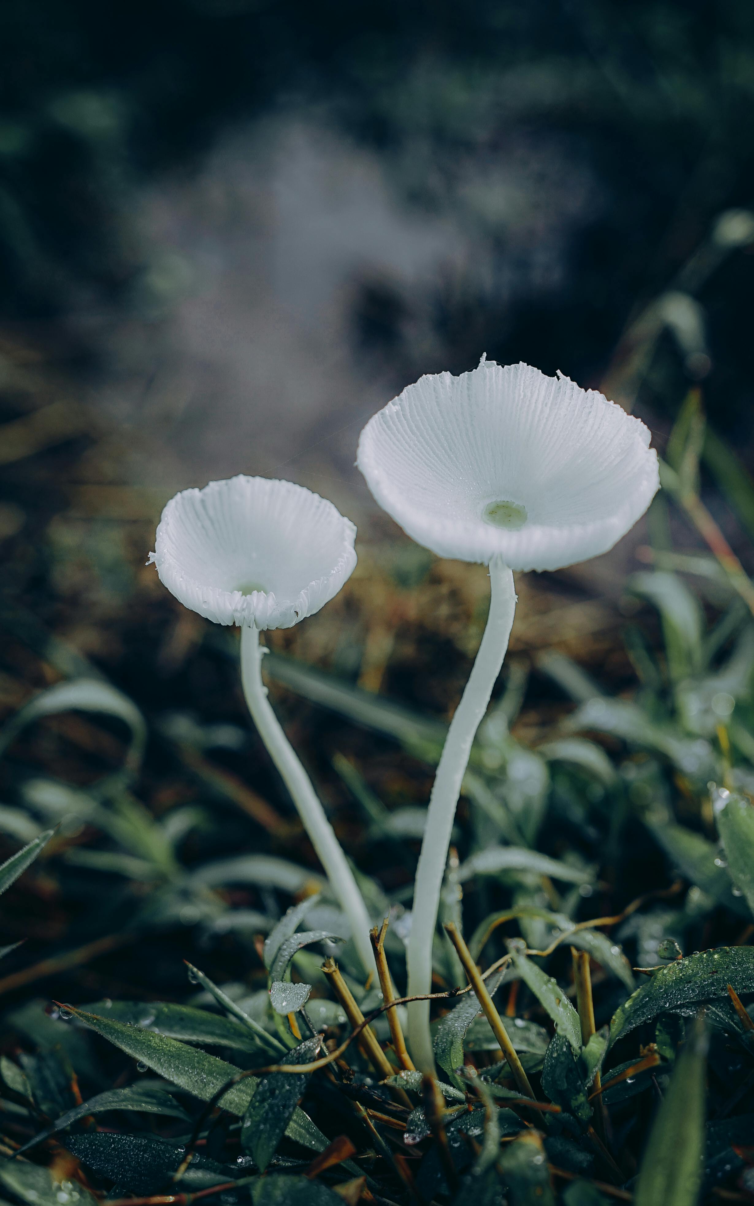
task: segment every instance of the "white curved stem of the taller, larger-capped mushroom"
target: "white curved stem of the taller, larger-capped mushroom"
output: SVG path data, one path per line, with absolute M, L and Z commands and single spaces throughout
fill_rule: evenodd
M 432 987 L 432 941 L 450 833 L 477 730 L 487 710 L 513 627 L 516 593 L 513 573 L 499 556 L 490 562 L 490 613 L 481 644 L 461 703 L 452 718 L 434 777 L 425 837 L 414 883 L 411 933 L 408 943 L 409 996 L 422 996 Z M 416 1067 L 434 1073 L 429 1035 L 429 1002 L 413 1001 L 409 1012 L 409 1048 Z

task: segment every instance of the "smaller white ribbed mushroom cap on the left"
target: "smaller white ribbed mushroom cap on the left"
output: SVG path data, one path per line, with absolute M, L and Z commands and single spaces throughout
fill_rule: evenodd
M 171 498 L 150 561 L 215 624 L 291 628 L 350 578 L 355 538 L 351 521 L 304 486 L 239 474 Z

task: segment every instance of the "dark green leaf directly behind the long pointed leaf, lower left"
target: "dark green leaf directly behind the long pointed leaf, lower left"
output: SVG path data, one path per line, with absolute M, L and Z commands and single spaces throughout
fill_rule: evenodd
M 173 1005 L 163 1001 L 95 1001 L 82 1008 L 88 1013 L 97 1013 L 100 1018 L 125 1021 L 151 1030 L 156 1035 L 180 1038 L 186 1043 L 210 1043 L 214 1047 L 232 1047 L 252 1054 L 269 1050 L 281 1054 L 284 1050 L 267 1031 L 262 1031 L 264 1034 L 262 1042 L 256 1030 L 250 1030 L 240 1021 L 222 1018 L 208 1009 L 197 1009 L 192 1005 Z

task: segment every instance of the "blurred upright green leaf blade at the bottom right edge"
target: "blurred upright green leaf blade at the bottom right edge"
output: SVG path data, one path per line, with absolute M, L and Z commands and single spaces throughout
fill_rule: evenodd
M 639 1169 L 635 1206 L 695 1206 L 705 1152 L 707 1036 L 699 1021 L 676 1061 Z

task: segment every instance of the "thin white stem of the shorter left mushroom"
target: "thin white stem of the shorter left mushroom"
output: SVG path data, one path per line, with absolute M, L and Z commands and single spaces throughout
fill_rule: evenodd
M 311 779 L 299 762 L 267 697 L 267 687 L 262 683 L 262 655 L 265 652 L 264 646 L 259 645 L 258 628 L 245 625 L 241 628 L 241 683 L 251 719 L 293 797 L 304 829 L 325 867 L 333 895 L 351 923 L 353 944 L 364 971 L 367 974 L 376 974 L 369 938 L 372 921 L 353 872 L 325 815 Z

